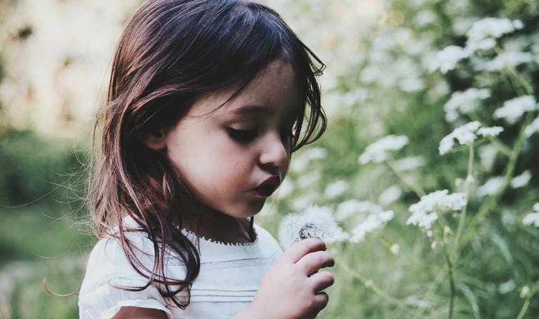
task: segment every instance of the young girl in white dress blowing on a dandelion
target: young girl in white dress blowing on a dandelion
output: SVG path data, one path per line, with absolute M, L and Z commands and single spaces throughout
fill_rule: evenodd
M 320 66 L 315 66 L 315 62 Z M 119 41 L 80 318 L 314 318 L 332 256 L 254 224 L 325 130 L 324 65 L 266 6 L 150 0 Z M 308 107 L 307 107 L 308 106 Z M 99 121 L 99 120 L 98 120 Z

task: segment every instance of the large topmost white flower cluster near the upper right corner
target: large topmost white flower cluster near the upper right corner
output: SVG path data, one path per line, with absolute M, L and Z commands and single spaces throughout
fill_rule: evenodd
M 520 20 L 509 20 L 500 18 L 485 18 L 476 21 L 472 28 L 466 33 L 468 41 L 466 46 L 471 48 L 480 47 L 480 42 L 485 39 L 498 39 L 503 34 L 508 34 L 515 29 L 522 29 L 523 23 Z

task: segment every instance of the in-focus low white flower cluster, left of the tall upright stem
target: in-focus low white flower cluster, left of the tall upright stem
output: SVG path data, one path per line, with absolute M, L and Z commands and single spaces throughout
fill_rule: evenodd
M 437 213 L 460 211 L 467 203 L 465 193 L 449 193 L 446 189 L 435 191 L 422 196 L 418 203 L 408 208 L 412 216 L 408 218 L 406 224 L 429 230 L 438 218 Z

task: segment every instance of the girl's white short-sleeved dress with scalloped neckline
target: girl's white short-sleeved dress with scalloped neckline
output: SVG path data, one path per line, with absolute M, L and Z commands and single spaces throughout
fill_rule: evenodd
M 117 240 L 101 239 L 90 253 L 86 266 L 79 292 L 79 317 L 112 318 L 120 308 L 134 306 L 163 310 L 167 318 L 231 318 L 249 305 L 260 280 L 282 255 L 280 245 L 271 234 L 257 224 L 254 231 L 257 238 L 253 243 L 227 244 L 200 238 L 200 272 L 192 285 L 190 303 L 184 310 L 162 298 L 153 285 L 142 291 L 112 287 L 139 287 L 145 285 L 147 279 L 134 270 Z M 183 233 L 196 243 L 194 233 L 185 230 Z M 152 269 L 153 244 L 144 234 L 126 233 L 126 236 L 144 252 L 137 257 Z M 185 266 L 175 258 L 167 258 L 165 272 L 169 278 L 185 278 Z

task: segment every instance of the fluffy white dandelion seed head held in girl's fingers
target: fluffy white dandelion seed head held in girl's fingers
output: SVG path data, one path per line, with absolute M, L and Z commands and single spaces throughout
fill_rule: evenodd
M 342 228 L 337 226 L 332 211 L 327 207 L 310 206 L 300 214 L 289 214 L 282 218 L 279 227 L 279 240 L 283 248 L 289 248 L 295 242 L 316 237 L 326 243 L 343 236 Z

